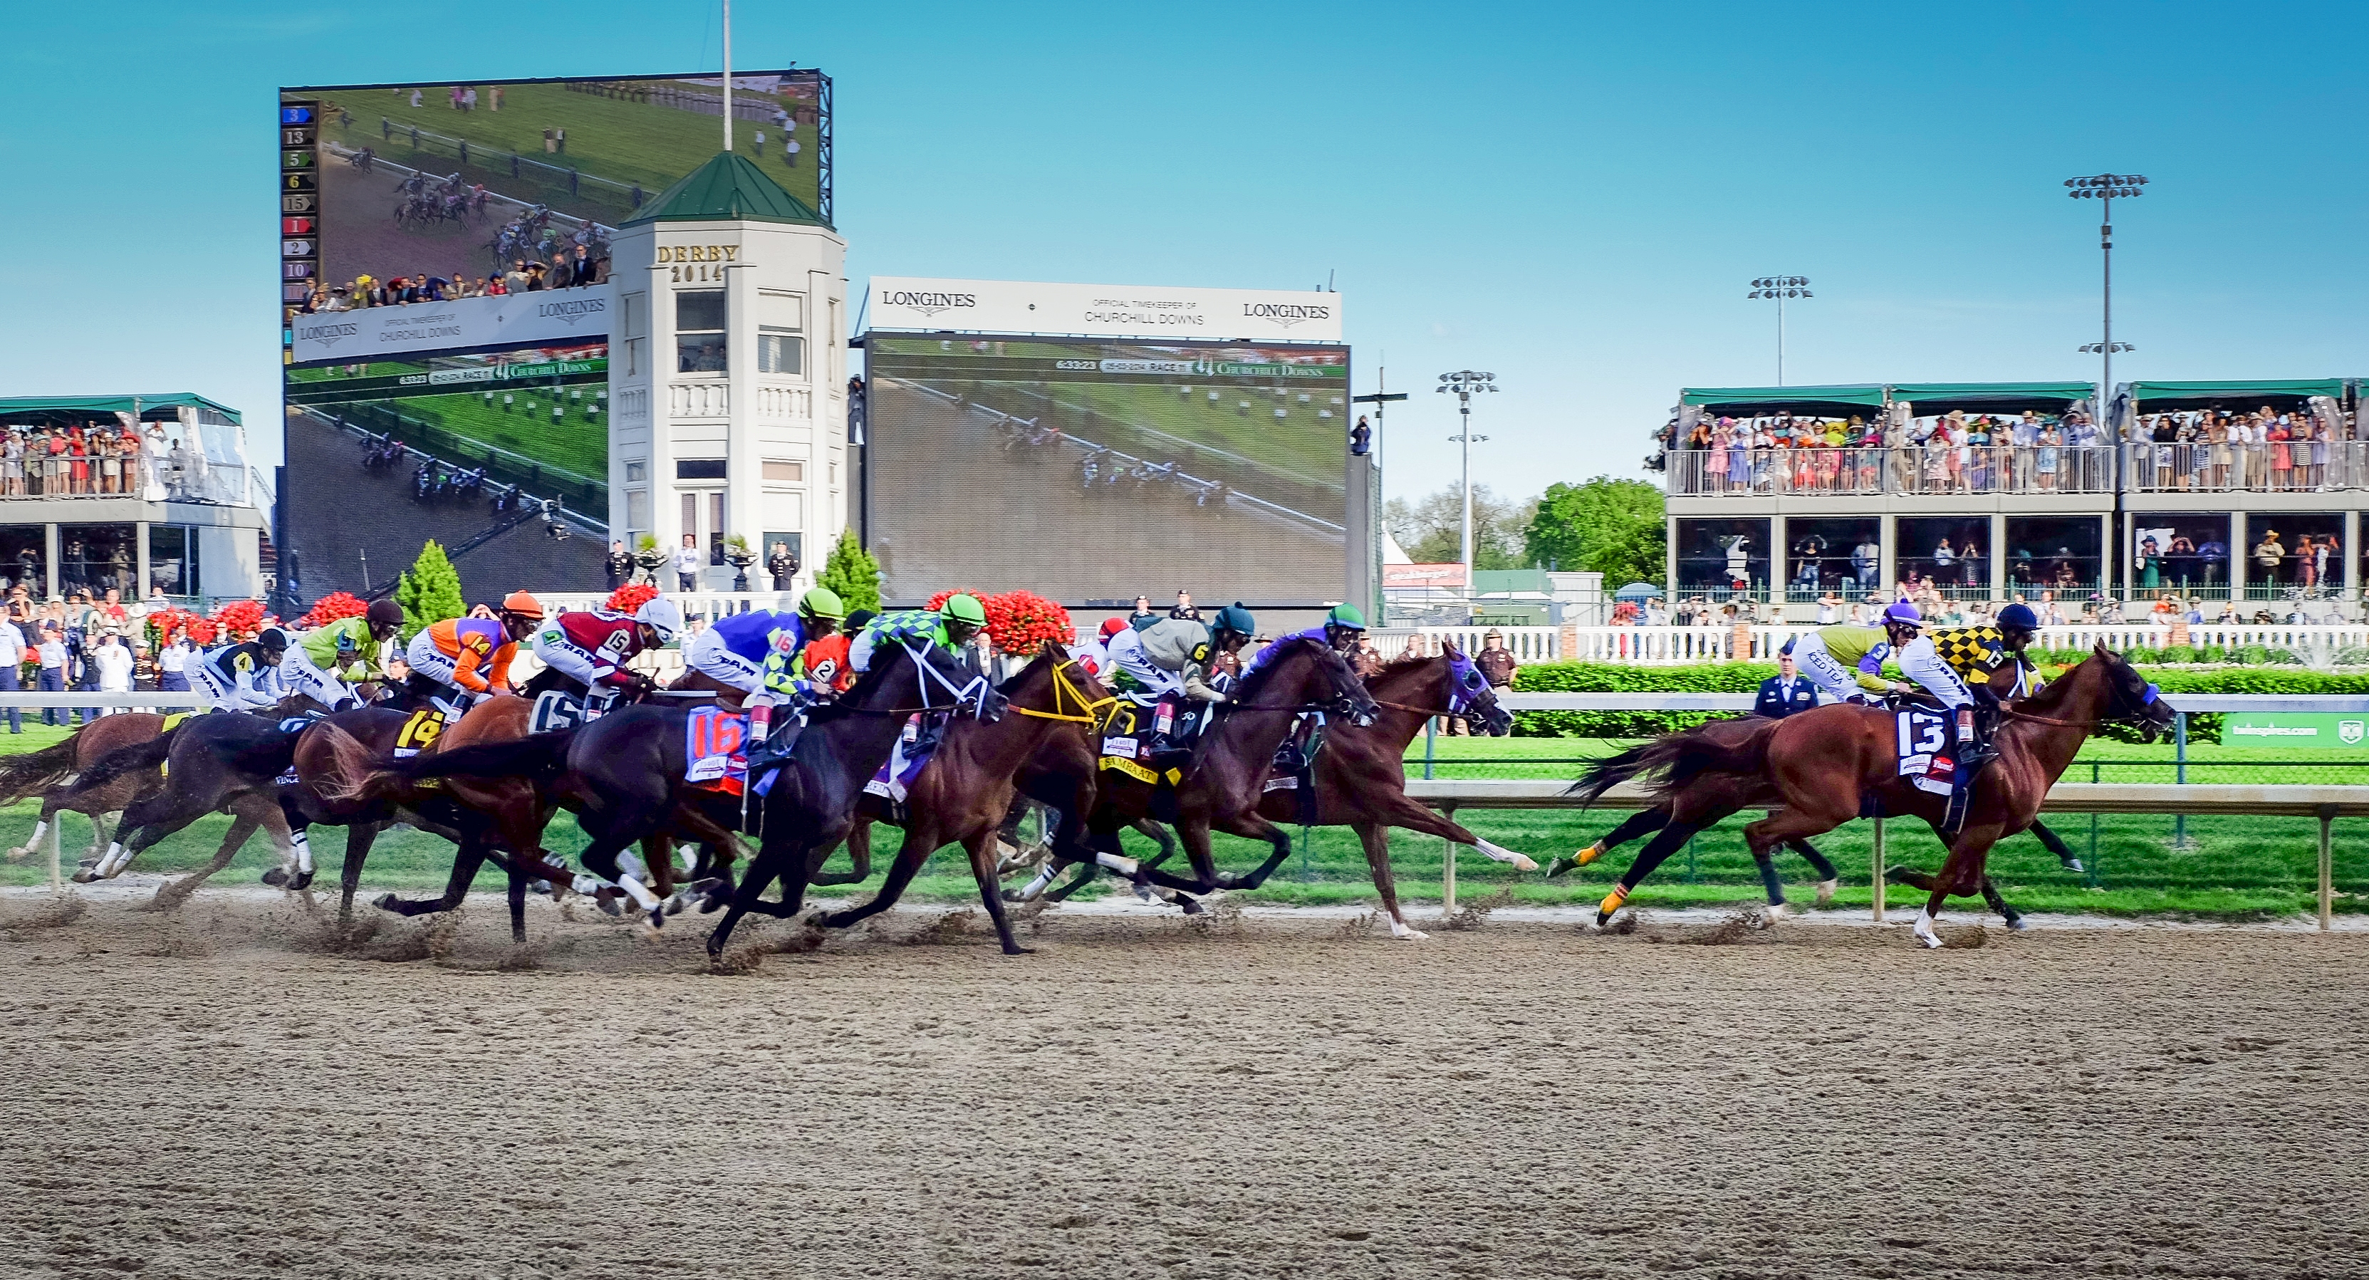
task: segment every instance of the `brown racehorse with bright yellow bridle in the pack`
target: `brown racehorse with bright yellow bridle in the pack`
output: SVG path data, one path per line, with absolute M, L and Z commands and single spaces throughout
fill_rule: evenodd
M 995 832 L 1012 808 L 1014 775 L 1035 761 L 1047 740 L 1071 740 L 1068 747 L 1092 759 L 1094 735 L 1109 723 L 1109 706 L 1116 702 L 1094 676 L 1068 657 L 1052 640 L 997 692 L 1007 699 L 1000 721 L 959 721 L 948 725 L 938 751 L 914 775 L 905 792 L 905 844 L 898 846 L 888 879 L 869 903 L 834 910 L 817 920 L 824 929 L 846 929 L 869 920 L 898 903 L 912 884 L 922 863 L 948 844 L 962 844 L 971 856 L 971 877 L 978 882 L 978 898 L 988 903 L 995 920 L 995 936 L 1004 955 L 1023 955 L 1028 948 L 1012 939 L 1012 920 L 1004 915 L 1002 884 L 995 879 Z M 1073 754 L 1078 754 L 1073 751 Z M 1076 837 L 1080 818 L 1094 804 L 1094 775 L 1071 775 L 1071 794 L 1057 806 L 1064 830 Z M 858 804 L 858 820 L 869 820 L 879 796 L 865 794 Z M 1054 837 L 1059 844 L 1061 837 Z

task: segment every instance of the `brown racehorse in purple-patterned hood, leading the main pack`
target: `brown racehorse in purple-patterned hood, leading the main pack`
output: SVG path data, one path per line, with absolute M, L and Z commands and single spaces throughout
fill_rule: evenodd
M 1481 671 L 1455 645 L 1438 654 L 1412 654 L 1391 661 L 1365 680 L 1381 713 L 1372 725 L 1334 725 L 1317 751 L 1310 785 L 1315 787 L 1315 820 L 1301 806 L 1296 787 L 1265 792 L 1258 813 L 1272 823 L 1305 823 L 1310 827 L 1350 827 L 1365 846 L 1367 870 L 1374 875 L 1374 891 L 1391 913 L 1391 936 L 1421 941 L 1426 934 L 1407 924 L 1398 905 L 1398 879 L 1391 875 L 1391 827 L 1436 834 L 1450 844 L 1478 849 L 1514 870 L 1537 870 L 1537 863 L 1490 844 L 1447 815 L 1407 799 L 1407 744 L 1433 716 L 1471 716 L 1490 737 L 1511 732 L 1514 716 L 1497 704 Z M 1147 858 L 1144 865 L 1156 865 Z M 1052 891 L 1059 901 L 1092 877 L 1085 868 L 1071 884 Z

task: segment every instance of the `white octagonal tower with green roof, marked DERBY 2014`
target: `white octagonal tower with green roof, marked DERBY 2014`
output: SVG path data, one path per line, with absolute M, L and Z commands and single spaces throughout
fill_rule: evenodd
M 777 540 L 813 583 L 848 521 L 846 254 L 822 216 L 718 154 L 618 230 L 609 282 L 609 529 L 628 548 L 758 564 Z M 673 564 L 661 574 L 673 585 Z

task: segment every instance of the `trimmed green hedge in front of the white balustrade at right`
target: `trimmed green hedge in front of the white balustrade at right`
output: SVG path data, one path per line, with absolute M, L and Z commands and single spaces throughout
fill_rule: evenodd
M 2331 673 L 2298 666 L 2229 666 L 2222 671 L 2139 668 L 2163 692 L 2260 692 L 2260 695 L 2364 695 L 2369 673 Z M 1616 666 L 1604 661 L 1537 661 L 1514 673 L 1519 692 L 1753 692 L 1774 676 L 1772 664 L 1706 661 L 1696 666 Z M 1886 676 L 1898 678 L 1886 668 Z M 1519 711 L 1519 737 L 1651 737 L 1703 721 L 1718 711 Z M 2220 742 L 2217 713 L 2189 716 L 2191 742 Z M 2108 725 L 2108 737 L 2137 742 L 2137 732 Z

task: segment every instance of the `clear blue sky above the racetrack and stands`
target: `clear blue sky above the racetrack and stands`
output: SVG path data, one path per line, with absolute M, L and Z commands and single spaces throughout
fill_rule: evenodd
M 839 92 L 850 277 L 1334 275 L 1391 493 L 1635 474 L 1680 386 L 2369 375 L 2360 5 L 1277 5 L 741 0 L 734 62 Z M 488 26 L 488 14 L 516 21 Z M 713 5 L 21 5 L 0 43 L 0 391 L 277 403 L 282 83 L 715 66 Z M 261 434 L 261 431 L 258 431 Z

